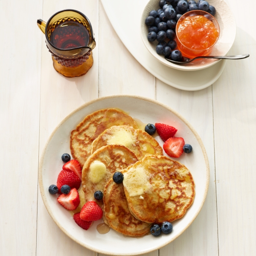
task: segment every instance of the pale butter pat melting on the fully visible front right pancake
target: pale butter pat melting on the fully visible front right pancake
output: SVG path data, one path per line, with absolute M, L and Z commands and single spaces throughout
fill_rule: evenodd
M 152 186 L 143 167 L 131 168 L 124 174 L 123 185 L 129 196 L 151 193 Z

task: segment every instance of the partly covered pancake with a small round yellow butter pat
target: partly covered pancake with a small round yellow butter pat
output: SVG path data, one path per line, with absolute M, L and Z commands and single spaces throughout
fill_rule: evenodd
M 114 172 L 125 169 L 137 162 L 136 155 L 122 145 L 107 145 L 96 150 L 85 162 L 82 169 L 82 187 L 85 201 L 94 200 L 94 192 L 103 192 L 105 183 Z

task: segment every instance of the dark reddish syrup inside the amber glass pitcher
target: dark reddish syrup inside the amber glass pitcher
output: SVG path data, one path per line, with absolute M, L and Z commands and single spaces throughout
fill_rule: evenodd
M 90 34 L 86 27 L 76 21 L 65 21 L 55 27 L 50 35 L 50 41 L 59 49 L 71 49 L 87 46 Z

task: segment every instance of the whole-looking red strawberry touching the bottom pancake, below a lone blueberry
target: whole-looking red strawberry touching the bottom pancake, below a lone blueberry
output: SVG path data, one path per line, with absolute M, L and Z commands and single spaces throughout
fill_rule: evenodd
M 88 201 L 80 212 L 80 218 L 84 221 L 97 221 L 102 218 L 102 209 L 95 201 Z

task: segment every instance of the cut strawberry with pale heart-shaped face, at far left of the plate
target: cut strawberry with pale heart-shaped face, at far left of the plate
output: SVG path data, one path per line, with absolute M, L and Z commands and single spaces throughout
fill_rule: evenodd
M 75 188 L 71 189 L 67 195 L 61 194 L 57 200 L 67 210 L 75 210 L 80 204 L 79 193 Z

